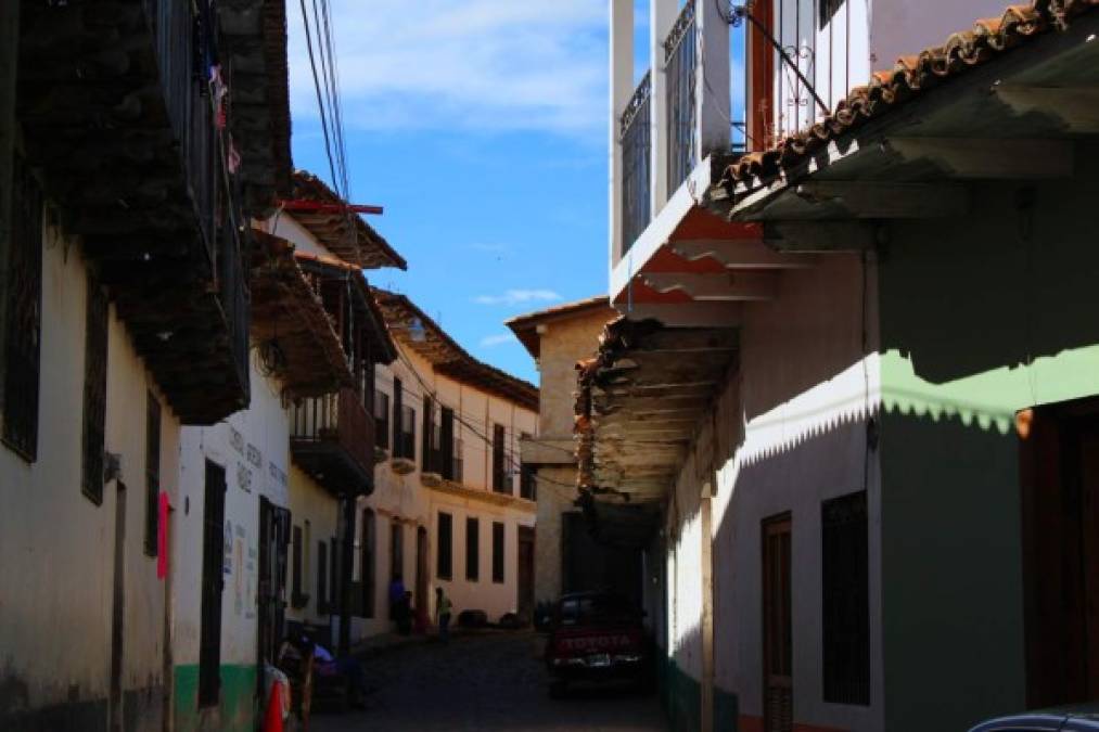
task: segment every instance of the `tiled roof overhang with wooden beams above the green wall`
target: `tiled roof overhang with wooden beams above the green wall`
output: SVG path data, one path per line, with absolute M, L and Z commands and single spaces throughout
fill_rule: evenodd
M 774 151 L 717 160 L 704 204 L 785 252 L 874 246 L 879 224 L 965 215 L 987 181 L 1076 173 L 1099 135 L 1099 2 L 1018 7 L 902 58 Z M 1020 14 L 1021 13 L 1021 14 Z

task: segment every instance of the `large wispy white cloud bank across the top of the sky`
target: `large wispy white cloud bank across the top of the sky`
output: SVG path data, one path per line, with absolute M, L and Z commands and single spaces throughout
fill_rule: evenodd
M 347 127 L 606 135 L 602 0 L 334 0 L 332 18 Z M 315 118 L 297 3 L 289 25 L 291 102 Z

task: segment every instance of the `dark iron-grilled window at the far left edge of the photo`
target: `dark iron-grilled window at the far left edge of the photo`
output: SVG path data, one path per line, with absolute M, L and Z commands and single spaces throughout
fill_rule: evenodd
M 21 457 L 38 455 L 42 336 L 42 192 L 18 155 L 12 158 L 8 252 L 3 443 Z

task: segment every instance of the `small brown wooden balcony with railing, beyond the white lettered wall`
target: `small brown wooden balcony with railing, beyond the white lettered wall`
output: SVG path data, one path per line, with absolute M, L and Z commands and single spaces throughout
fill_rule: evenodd
M 295 463 L 335 496 L 374 490 L 374 418 L 355 389 L 302 399 L 290 413 Z

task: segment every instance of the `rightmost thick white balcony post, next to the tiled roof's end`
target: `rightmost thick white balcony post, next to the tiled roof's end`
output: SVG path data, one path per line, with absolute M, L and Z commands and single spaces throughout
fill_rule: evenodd
M 729 23 L 724 0 L 696 0 L 698 66 L 696 68 L 696 124 L 698 160 L 710 153 L 728 152 L 731 142 L 729 100 Z

